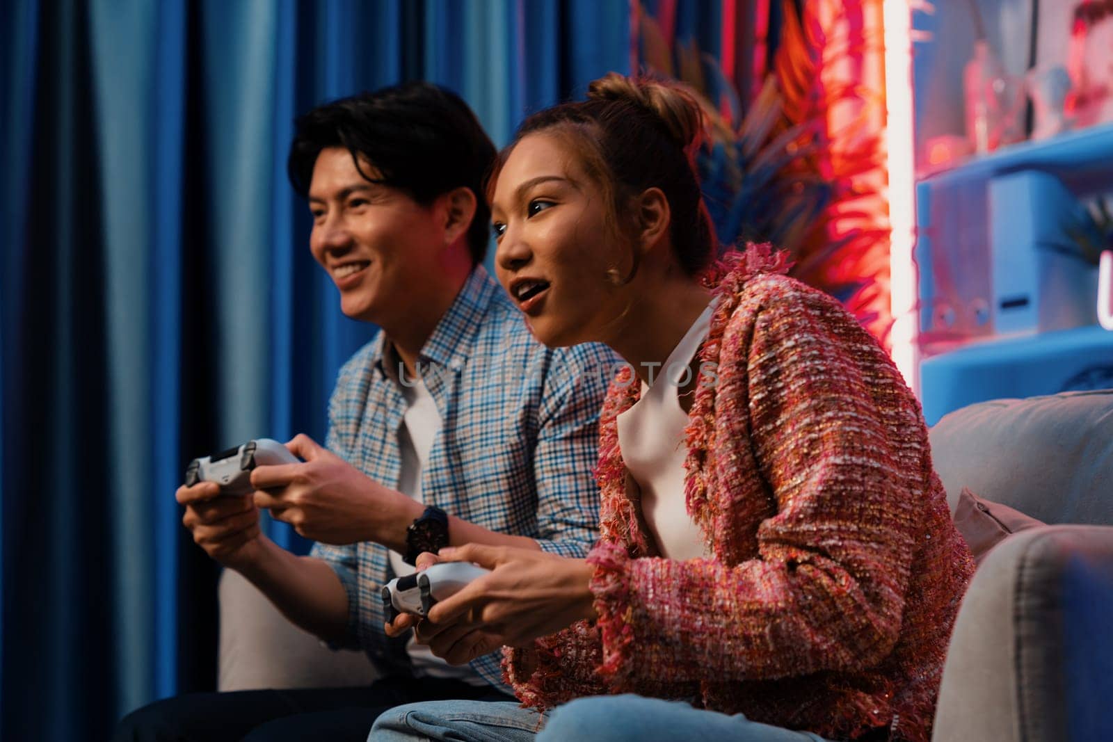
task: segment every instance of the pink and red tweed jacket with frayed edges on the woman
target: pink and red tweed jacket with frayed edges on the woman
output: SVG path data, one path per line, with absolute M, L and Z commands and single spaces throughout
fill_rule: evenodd
M 506 680 L 538 708 L 633 692 L 927 742 L 974 562 L 919 404 L 854 317 L 780 275 L 782 256 L 751 246 L 731 264 L 687 428 L 688 513 L 712 556 L 656 556 L 615 423 L 640 385 L 615 379 L 589 556 L 599 617 L 508 649 Z

